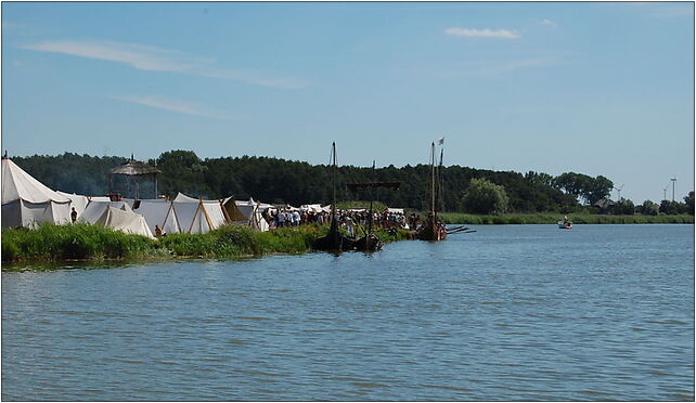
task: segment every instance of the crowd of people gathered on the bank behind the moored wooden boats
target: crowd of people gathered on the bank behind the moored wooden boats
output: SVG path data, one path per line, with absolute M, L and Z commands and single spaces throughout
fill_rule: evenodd
M 338 224 L 345 227 L 349 235 L 356 234 L 357 227 L 368 227 L 370 224 L 370 211 L 362 209 L 337 210 Z M 331 222 L 331 212 L 299 209 L 267 209 L 262 213 L 271 230 L 284 226 L 299 226 L 306 224 L 323 224 Z M 410 217 L 402 211 L 386 209 L 382 212 L 373 211 L 373 227 L 383 229 L 414 229 L 417 225 L 417 218 L 414 213 Z

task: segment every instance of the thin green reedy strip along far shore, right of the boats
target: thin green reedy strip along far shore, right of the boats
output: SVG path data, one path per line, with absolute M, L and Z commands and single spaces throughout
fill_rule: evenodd
M 438 213 L 448 224 L 555 224 L 563 218 L 560 213 L 477 216 L 461 212 Z M 568 214 L 573 224 L 693 224 L 694 216 L 605 216 Z

